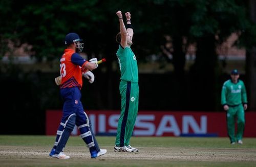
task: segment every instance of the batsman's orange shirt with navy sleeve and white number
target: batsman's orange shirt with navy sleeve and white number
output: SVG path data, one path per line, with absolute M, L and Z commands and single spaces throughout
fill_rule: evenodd
M 71 49 L 65 49 L 60 59 L 60 76 L 62 88 L 82 87 L 81 67 L 88 61 Z

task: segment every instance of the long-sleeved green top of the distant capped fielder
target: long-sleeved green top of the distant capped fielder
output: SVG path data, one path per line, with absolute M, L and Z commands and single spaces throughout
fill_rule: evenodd
M 238 80 L 238 83 L 235 84 L 231 79 L 224 82 L 221 91 L 221 104 L 235 106 L 241 103 L 247 103 L 244 82 Z

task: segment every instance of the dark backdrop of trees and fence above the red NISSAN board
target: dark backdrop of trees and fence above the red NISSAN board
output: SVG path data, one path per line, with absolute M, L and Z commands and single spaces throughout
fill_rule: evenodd
M 69 32 L 76 32 L 84 39 L 84 52 L 88 58 L 96 56 L 108 60 L 94 71 L 94 84 L 84 81 L 84 108 L 120 108 L 120 74 L 115 56 L 118 10 L 132 13 L 135 31 L 132 48 L 139 63 L 146 63 L 148 55 L 161 52 L 163 35 L 173 37 L 174 59 L 167 63 L 173 63 L 174 71 L 139 74 L 140 110 L 222 110 L 220 91 L 228 74 L 220 69 L 216 46 L 235 32 L 239 35 L 236 44 L 245 47 L 248 53 L 252 51 L 256 42 L 256 26 L 250 17 L 250 2 L 0 1 L 0 58 L 6 53 L 12 55 L 13 51 L 8 47 L 8 42 L 12 41 L 16 47 L 24 43 L 32 45 L 30 55 L 36 60 L 29 69 L 13 61 L 8 64 L 1 62 L 1 111 L 8 119 L 0 124 L 9 126 L 0 132 L 43 134 L 45 110 L 62 107 L 53 79 L 58 76 L 58 59 L 65 48 L 63 39 Z M 188 42 L 197 43 L 197 58 L 189 71 L 184 70 L 183 37 Z M 250 68 L 246 71 L 249 73 Z M 249 88 L 249 95 L 253 94 L 250 92 L 252 86 L 246 81 L 251 78 L 251 75 L 241 76 Z M 253 107 L 249 109 L 255 110 Z M 19 128 L 10 124 L 10 120 Z M 31 124 L 35 128 L 29 129 Z

